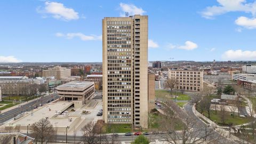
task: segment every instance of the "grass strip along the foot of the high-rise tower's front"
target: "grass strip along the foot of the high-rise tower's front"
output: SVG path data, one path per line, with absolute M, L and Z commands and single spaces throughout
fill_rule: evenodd
M 131 124 L 105 124 L 103 125 L 103 131 L 106 133 L 126 133 L 132 132 Z

